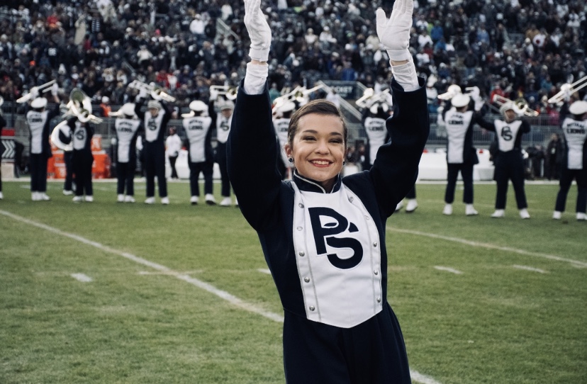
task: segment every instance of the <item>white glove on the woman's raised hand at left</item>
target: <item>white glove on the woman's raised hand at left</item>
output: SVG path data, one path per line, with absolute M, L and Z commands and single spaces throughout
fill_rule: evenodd
M 245 26 L 251 39 L 249 56 L 267 62 L 271 47 L 271 28 L 261 11 L 261 0 L 245 0 Z

